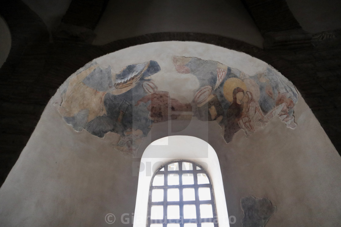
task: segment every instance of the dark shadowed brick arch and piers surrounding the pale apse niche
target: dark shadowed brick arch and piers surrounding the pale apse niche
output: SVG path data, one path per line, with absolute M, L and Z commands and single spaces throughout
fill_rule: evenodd
M 264 50 L 231 38 L 189 32 L 146 34 L 93 46 L 93 29 L 106 4 L 107 0 L 73 0 L 49 42 L 45 24 L 28 6 L 20 0 L 1 1 L 0 14 L 12 35 L 10 54 L 0 68 L 1 184 L 48 100 L 73 72 L 119 49 L 169 40 L 214 44 L 272 65 L 294 83 L 341 151 L 341 30 L 309 34 L 300 28 L 285 1 L 246 0 L 244 4 L 265 38 Z

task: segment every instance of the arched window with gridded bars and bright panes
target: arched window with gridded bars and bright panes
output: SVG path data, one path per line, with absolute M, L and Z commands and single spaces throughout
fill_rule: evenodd
M 210 177 L 192 161 L 171 161 L 155 172 L 147 227 L 217 227 Z

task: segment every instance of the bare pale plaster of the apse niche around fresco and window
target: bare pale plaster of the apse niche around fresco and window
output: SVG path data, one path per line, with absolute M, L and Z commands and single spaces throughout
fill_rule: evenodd
M 152 59 L 162 68 L 163 59 L 173 54 L 219 61 L 246 73 L 266 67 L 246 54 L 194 42 L 130 47 L 98 62 L 115 62 L 120 69 Z M 109 226 L 104 219 L 107 213 L 116 215 L 112 226 L 132 226 L 121 224 L 120 217 L 124 213 L 131 217 L 134 212 L 137 176 L 133 170 L 140 158 L 114 151 L 118 141 L 114 133 L 100 139 L 85 130 L 75 132 L 57 112 L 58 98 L 57 93 L 46 106 L 0 188 L 0 226 Z M 157 123 L 140 146 L 138 157 L 152 140 L 167 135 L 196 136 L 217 152 L 228 214 L 237 219 L 231 226 L 241 226 L 240 198 L 247 195 L 267 197 L 277 206 L 267 226 L 338 226 L 341 158 L 301 97 L 295 117 L 295 130 L 273 118 L 249 138 L 240 130 L 229 144 L 213 121 L 203 126 L 193 119 L 177 133 L 165 130 L 167 122 Z M 172 124 L 181 127 L 183 122 Z

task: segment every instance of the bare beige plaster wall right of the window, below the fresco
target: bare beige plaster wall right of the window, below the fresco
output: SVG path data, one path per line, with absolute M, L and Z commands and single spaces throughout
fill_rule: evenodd
M 301 97 L 295 117 L 295 130 L 273 118 L 270 127 L 248 139 L 237 132 L 218 154 L 223 181 L 230 184 L 225 189 L 228 213 L 237 220 L 243 216 L 240 208 L 230 209 L 229 202 L 254 195 L 277 206 L 267 226 L 339 225 L 341 212 L 335 208 L 341 203 L 341 158 Z

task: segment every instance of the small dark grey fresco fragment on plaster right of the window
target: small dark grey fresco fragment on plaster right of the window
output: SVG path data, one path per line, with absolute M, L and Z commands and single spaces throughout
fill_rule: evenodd
M 268 198 L 257 199 L 252 195 L 241 198 L 240 206 L 244 212 L 242 227 L 263 227 L 277 211 Z

